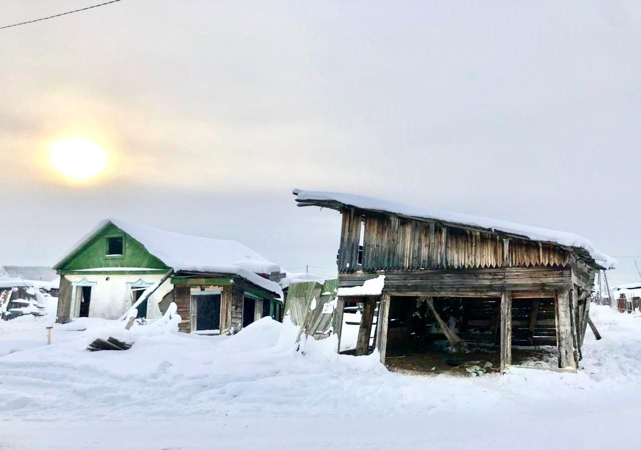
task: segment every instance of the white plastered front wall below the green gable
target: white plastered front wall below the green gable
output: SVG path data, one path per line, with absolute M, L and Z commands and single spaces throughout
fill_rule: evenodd
M 65 275 L 65 278 L 71 283 L 81 283 L 87 281 L 91 283 L 91 301 L 89 304 L 89 317 L 100 317 L 101 319 L 118 319 L 121 315 L 131 307 L 131 285 L 138 280 L 144 283 L 156 283 L 164 275 L 164 272 L 159 274 L 127 274 L 127 275 L 113 275 L 113 274 L 81 274 L 81 275 Z M 107 279 L 108 278 L 108 279 Z M 94 284 L 95 283 L 95 284 Z M 165 280 L 162 285 L 156 289 L 147 301 L 147 318 L 158 319 L 162 314 L 158 308 L 158 302 L 162 297 L 170 292 L 173 285 L 169 279 Z M 72 301 L 71 301 L 71 317 L 78 317 L 78 301 L 75 299 L 77 288 L 72 286 Z

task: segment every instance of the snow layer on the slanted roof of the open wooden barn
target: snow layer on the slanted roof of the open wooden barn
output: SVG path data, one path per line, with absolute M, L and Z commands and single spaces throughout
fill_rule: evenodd
M 420 206 L 410 206 L 402 203 L 376 199 L 373 197 L 356 196 L 353 194 L 342 194 L 340 192 L 322 192 L 314 190 L 294 189 L 292 193 L 297 196 L 299 206 L 315 204 L 316 202 L 333 202 L 344 206 L 354 206 L 363 210 L 375 210 L 392 214 L 399 214 L 417 219 L 431 219 L 440 222 L 447 222 L 452 225 L 472 226 L 487 229 L 488 231 L 499 231 L 512 235 L 519 235 L 531 240 L 551 242 L 566 247 L 578 247 L 585 249 L 595 263 L 603 269 L 615 269 L 617 260 L 598 251 L 592 242 L 572 233 L 554 231 L 553 229 L 537 228 L 528 225 L 519 225 L 512 222 L 487 219 L 474 215 L 466 215 Z

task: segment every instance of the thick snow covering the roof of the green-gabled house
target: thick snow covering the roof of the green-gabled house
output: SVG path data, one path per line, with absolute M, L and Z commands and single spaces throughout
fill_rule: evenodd
M 258 275 L 278 272 L 280 266 L 269 262 L 262 254 L 240 242 L 182 235 L 120 219 L 104 219 L 98 222 L 94 229 L 81 238 L 54 267 L 60 265 L 70 254 L 110 223 L 140 242 L 149 253 L 174 271 L 238 275 L 283 298 L 283 291 L 278 283 Z

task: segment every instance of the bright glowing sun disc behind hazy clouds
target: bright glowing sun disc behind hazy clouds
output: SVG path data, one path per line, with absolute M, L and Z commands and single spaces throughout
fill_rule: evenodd
M 81 138 L 64 139 L 49 148 L 51 165 L 70 181 L 88 181 L 104 171 L 107 155 L 97 144 Z

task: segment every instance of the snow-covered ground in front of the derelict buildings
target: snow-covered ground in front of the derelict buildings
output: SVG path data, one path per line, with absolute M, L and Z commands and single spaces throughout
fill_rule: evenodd
M 331 340 L 297 353 L 269 318 L 90 353 L 113 322 L 56 325 L 46 346 L 46 320 L 21 317 L 0 322 L 0 449 L 638 449 L 641 319 L 590 312 L 603 340 L 588 330 L 579 374 L 477 378 L 388 372 Z

